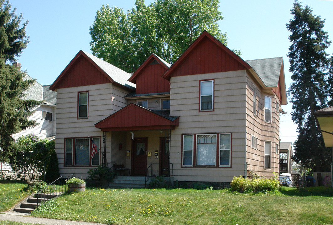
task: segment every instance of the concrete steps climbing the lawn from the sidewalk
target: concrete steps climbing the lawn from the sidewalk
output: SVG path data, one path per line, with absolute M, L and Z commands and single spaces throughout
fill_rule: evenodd
M 21 213 L 31 213 L 35 208 L 37 208 L 37 201 L 38 201 L 38 206 L 41 204 L 42 201 L 48 201 L 51 198 L 55 198 L 59 196 L 60 193 L 55 193 L 55 194 L 33 194 L 29 197 L 27 197 L 25 200 L 23 200 L 21 203 L 19 203 L 17 206 L 14 208 L 14 212 L 21 212 Z

